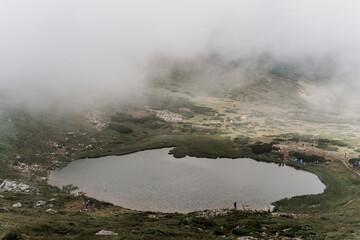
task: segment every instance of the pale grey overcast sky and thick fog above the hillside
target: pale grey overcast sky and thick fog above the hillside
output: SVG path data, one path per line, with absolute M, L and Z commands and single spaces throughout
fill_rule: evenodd
M 360 59 L 359 1 L 1 0 L 0 89 L 128 94 L 153 55 Z

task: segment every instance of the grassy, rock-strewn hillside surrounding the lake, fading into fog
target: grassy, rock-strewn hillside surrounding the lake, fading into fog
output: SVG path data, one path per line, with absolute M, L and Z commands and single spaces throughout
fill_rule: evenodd
M 358 238 L 359 169 L 343 154 L 358 157 L 359 118 L 317 104 L 314 93 L 326 89 L 321 81 L 282 65 L 251 66 L 205 59 L 154 67 L 144 103 L 98 103 L 76 112 L 2 105 L 0 180 L 29 186 L 0 193 L 3 239 L 98 239 L 100 230 L 119 234 L 109 239 Z M 46 183 L 50 171 L 75 159 L 170 146 L 176 157 L 286 163 L 317 174 L 327 189 L 275 202 L 274 214 L 214 216 L 138 212 L 97 200 L 84 209 L 89 197 L 71 194 L 73 186 Z M 320 164 L 297 165 L 295 157 Z

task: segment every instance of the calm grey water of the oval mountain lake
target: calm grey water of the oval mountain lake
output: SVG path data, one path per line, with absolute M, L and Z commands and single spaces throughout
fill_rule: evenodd
M 81 159 L 50 175 L 98 200 L 125 208 L 190 212 L 263 207 L 285 197 L 319 194 L 325 185 L 309 172 L 252 159 L 174 158 L 169 148 L 123 156 Z

